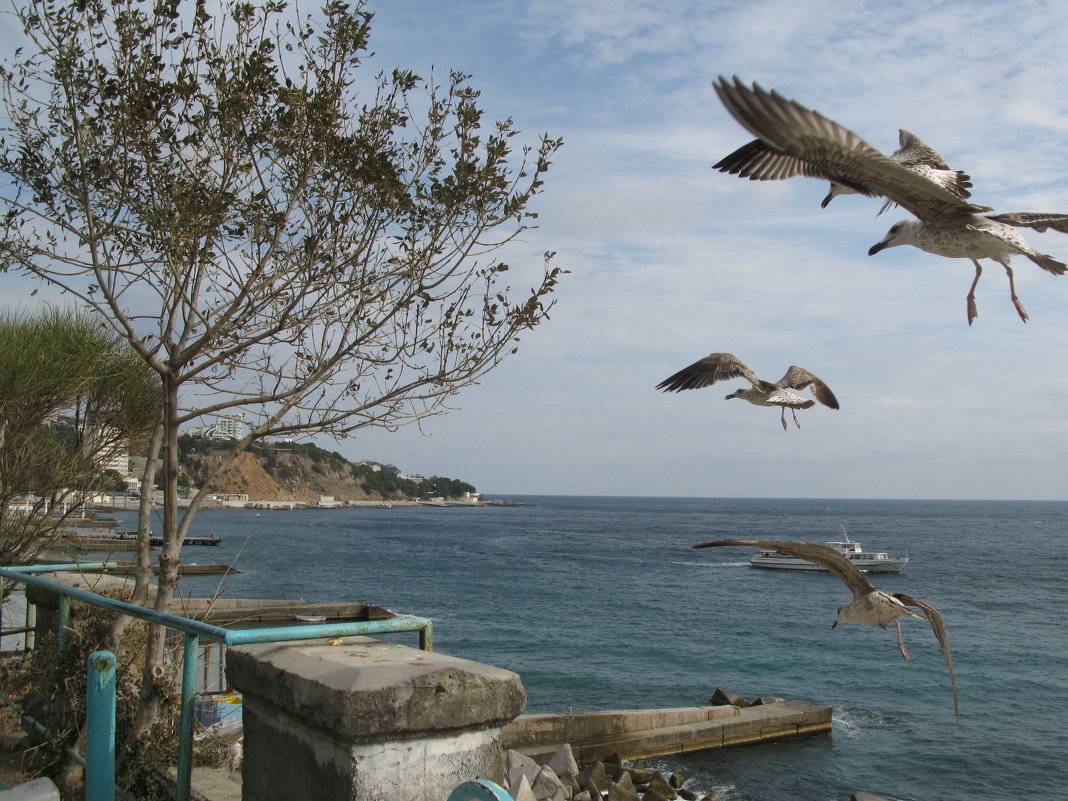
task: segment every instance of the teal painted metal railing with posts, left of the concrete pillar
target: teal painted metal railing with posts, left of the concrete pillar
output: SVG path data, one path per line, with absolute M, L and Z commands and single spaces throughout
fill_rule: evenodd
M 107 598 L 84 590 L 67 586 L 56 581 L 41 578 L 36 574 L 85 571 L 112 566 L 108 562 L 61 565 L 31 565 L 19 567 L 0 567 L 0 598 L 3 597 L 4 581 L 16 581 L 31 586 L 40 586 L 57 593 L 59 603 L 59 630 L 57 631 L 60 651 L 66 647 L 67 627 L 70 619 L 70 600 L 79 600 L 94 607 L 111 610 L 119 614 L 129 615 L 150 623 L 159 624 L 166 628 L 184 634 L 184 651 L 182 662 L 182 716 L 178 729 L 178 759 L 175 787 L 176 801 L 189 801 L 190 780 L 192 778 L 192 745 L 194 703 L 197 695 L 197 668 L 200 660 L 201 639 L 223 643 L 224 645 L 246 645 L 250 643 L 277 643 L 292 640 L 316 640 L 333 637 L 352 637 L 358 634 L 384 634 L 397 631 L 418 631 L 419 647 L 423 650 L 434 649 L 434 626 L 426 617 L 403 615 L 384 621 L 352 621 L 349 623 L 300 624 L 294 626 L 276 626 L 256 629 L 225 629 L 213 626 L 203 621 L 193 621 L 169 612 L 157 612 L 154 609 L 138 607 L 125 601 Z M 2 618 L 0 618 L 2 626 Z M 94 698 L 90 695 L 89 713 L 93 716 L 92 707 L 107 704 L 108 657 L 111 671 L 111 723 L 110 745 L 107 736 L 93 740 L 92 747 L 87 743 L 87 757 L 76 758 L 85 766 L 85 801 L 113 801 L 114 799 L 114 655 L 109 651 L 97 651 L 90 657 L 89 684 L 90 690 L 99 687 L 100 694 Z M 18 705 L 3 693 L 0 701 L 16 709 L 23 718 L 29 718 Z M 101 714 L 104 716 L 101 718 Z M 32 719 L 31 723 L 38 728 L 41 724 Z M 101 722 L 103 721 L 103 722 Z M 108 729 L 107 713 L 97 709 L 95 716 L 87 721 L 87 733 L 92 736 L 90 727 L 99 726 L 99 732 Z M 110 780 L 107 778 L 110 774 Z M 477 797 L 474 797 L 477 798 Z

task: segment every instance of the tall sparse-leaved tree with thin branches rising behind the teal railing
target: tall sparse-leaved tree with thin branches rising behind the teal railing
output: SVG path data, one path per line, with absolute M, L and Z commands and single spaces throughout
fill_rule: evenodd
M 496 251 L 531 224 L 560 142 L 514 152 L 513 123 L 483 120 L 468 76 L 365 77 L 361 2 L 213 16 L 30 0 L 19 14 L 26 53 L 0 76 L 0 247 L 159 376 L 163 609 L 206 489 L 179 512 L 179 427 L 244 412 L 236 456 L 266 436 L 445 410 L 551 307 L 551 254 L 513 289 Z

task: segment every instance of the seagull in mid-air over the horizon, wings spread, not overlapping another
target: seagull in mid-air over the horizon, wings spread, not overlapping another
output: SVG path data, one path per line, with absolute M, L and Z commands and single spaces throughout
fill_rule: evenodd
M 831 392 L 831 388 L 819 380 L 816 376 L 803 367 L 796 364 L 790 365 L 786 375 L 772 383 L 756 377 L 756 373 L 747 367 L 742 361 L 734 354 L 709 354 L 704 359 L 698 359 L 689 367 L 684 367 L 673 376 L 669 376 L 657 384 L 658 390 L 664 392 L 681 392 L 682 390 L 697 390 L 708 387 L 717 381 L 728 378 L 744 378 L 752 387 L 735 390 L 724 399 L 740 397 L 756 406 L 779 406 L 782 407 L 783 429 L 788 430 L 786 424 L 786 410 L 789 409 L 794 415 L 794 424 L 800 428 L 797 409 L 808 409 L 819 400 L 823 406 L 832 409 L 838 408 L 838 399 Z M 812 394 L 816 400 L 801 397 L 790 390 L 812 389 Z

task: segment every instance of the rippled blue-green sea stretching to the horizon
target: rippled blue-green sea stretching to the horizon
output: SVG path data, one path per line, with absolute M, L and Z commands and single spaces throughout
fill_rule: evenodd
M 690 706 L 718 688 L 833 708 L 829 735 L 649 760 L 722 801 L 1068 798 L 1068 503 L 496 500 L 518 505 L 205 509 L 191 533 L 222 545 L 187 547 L 184 561 L 241 572 L 189 577 L 183 592 L 429 617 L 437 650 L 518 673 L 528 712 Z M 906 662 L 893 627 L 832 630 L 850 597 L 834 576 L 691 548 L 843 532 L 910 557 L 871 579 L 941 611 L 959 727 L 926 622 L 902 621 Z

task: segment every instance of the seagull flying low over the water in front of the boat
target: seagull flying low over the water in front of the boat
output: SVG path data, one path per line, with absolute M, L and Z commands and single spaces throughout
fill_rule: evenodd
M 901 639 L 901 617 L 922 617 L 926 619 L 931 631 L 938 639 L 938 644 L 942 648 L 942 656 L 945 657 L 945 666 L 949 671 L 949 682 L 953 686 L 953 709 L 957 718 L 957 725 L 960 725 L 960 701 L 957 695 L 957 674 L 953 670 L 953 655 L 949 653 L 949 638 L 945 632 L 945 624 L 942 615 L 934 607 L 913 598 L 905 593 L 886 593 L 876 588 L 861 570 L 849 562 L 843 554 L 826 545 L 815 543 L 788 543 L 775 539 L 717 539 L 711 543 L 701 543 L 694 548 L 717 548 L 722 546 L 749 546 L 763 550 L 779 551 L 787 556 L 798 556 L 817 565 L 822 565 L 828 570 L 842 579 L 849 591 L 853 594 L 853 599 L 848 603 L 838 607 L 838 615 L 831 628 L 836 628 L 839 623 L 860 623 L 865 626 L 879 626 L 885 629 L 886 624 L 893 623 L 897 629 L 897 646 L 900 648 L 901 657 L 908 660 L 909 651 L 905 647 Z M 913 612 L 909 607 L 915 607 L 923 614 Z

